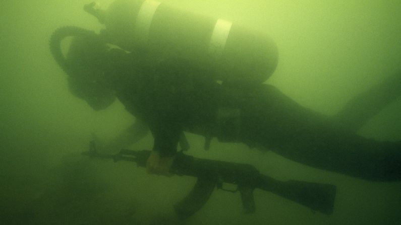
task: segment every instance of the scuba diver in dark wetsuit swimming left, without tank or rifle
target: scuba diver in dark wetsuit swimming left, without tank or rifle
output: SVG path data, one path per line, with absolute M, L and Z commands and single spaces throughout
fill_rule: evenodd
M 64 57 L 60 42 L 67 36 L 76 38 Z M 129 132 L 140 137 L 149 127 L 154 137 L 149 172 L 168 172 L 185 131 L 203 135 L 207 140 L 216 137 L 269 149 L 314 168 L 366 180 L 401 179 L 401 142 L 378 141 L 356 134 L 378 109 L 401 95 L 400 74 L 328 118 L 299 105 L 271 85 L 219 84 L 199 68 L 175 68 L 165 61 L 150 65 L 143 55 L 110 48 L 95 33 L 83 29 L 57 30 L 50 47 L 55 60 L 68 74 L 75 96 L 95 110 L 106 108 L 118 98 L 140 121 Z M 370 101 L 377 98 L 369 95 L 382 92 L 386 93 L 382 96 L 386 101 Z M 364 108 L 353 107 L 360 100 L 367 103 Z M 353 125 L 345 124 L 353 119 Z

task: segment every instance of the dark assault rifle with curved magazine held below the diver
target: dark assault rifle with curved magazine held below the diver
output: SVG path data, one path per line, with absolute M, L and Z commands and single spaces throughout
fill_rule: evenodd
M 100 154 L 96 151 L 94 141 L 91 141 L 89 152 L 84 152 L 83 155 L 113 159 L 114 162 L 135 162 L 140 167 L 146 167 L 150 151 L 122 149 L 115 155 Z M 175 204 L 175 210 L 181 217 L 188 217 L 198 211 L 209 199 L 215 187 L 231 192 L 240 191 L 247 213 L 255 211 L 253 199 L 255 188 L 270 191 L 325 214 L 331 214 L 333 211 L 336 192 L 334 185 L 295 180 L 278 181 L 260 174 L 255 167 L 248 164 L 198 159 L 179 152 L 170 173 L 197 177 L 197 182 L 188 196 Z M 222 187 L 223 183 L 235 184 L 237 189 L 226 190 Z

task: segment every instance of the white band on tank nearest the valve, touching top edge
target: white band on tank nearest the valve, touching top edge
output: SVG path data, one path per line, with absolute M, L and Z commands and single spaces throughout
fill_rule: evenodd
M 144 46 L 148 42 L 150 25 L 152 24 L 154 13 L 159 7 L 160 2 L 154 0 L 146 0 L 142 3 L 138 12 L 137 21 L 135 23 L 135 41 L 139 45 Z

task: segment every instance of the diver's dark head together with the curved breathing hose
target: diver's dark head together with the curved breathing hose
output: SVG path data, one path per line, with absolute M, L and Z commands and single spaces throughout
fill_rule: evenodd
M 68 53 L 61 52 L 61 41 L 73 36 Z M 84 99 L 93 109 L 107 108 L 116 99 L 107 79 L 107 45 L 90 31 L 64 27 L 53 33 L 50 49 L 55 60 L 68 74 L 71 93 Z

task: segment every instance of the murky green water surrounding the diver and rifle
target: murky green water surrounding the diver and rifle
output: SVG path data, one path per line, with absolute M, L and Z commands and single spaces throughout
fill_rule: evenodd
M 108 6 L 113 1 L 98 1 Z M 399 0 L 164 0 L 178 9 L 223 18 L 268 34 L 278 65 L 266 81 L 299 104 L 332 116 L 347 101 L 391 76 L 401 76 Z M 400 224 L 400 182 L 372 182 L 307 167 L 245 144 L 188 133 L 188 154 L 245 163 L 278 180 L 336 185 L 334 211 L 312 211 L 272 193 L 254 192 L 245 214 L 239 193 L 214 190 L 185 221 L 172 217 L 196 179 L 147 174 L 133 163 L 82 156 L 92 133 L 111 140 L 134 121 L 121 102 L 95 111 L 68 89 L 49 50 L 62 26 L 99 32 L 83 10 L 90 1 L 11 1 L 0 4 L 1 224 Z M 401 98 L 359 134 L 401 140 Z M 130 146 L 151 149 L 149 134 Z M 401 149 L 400 149 L 401 151 Z

